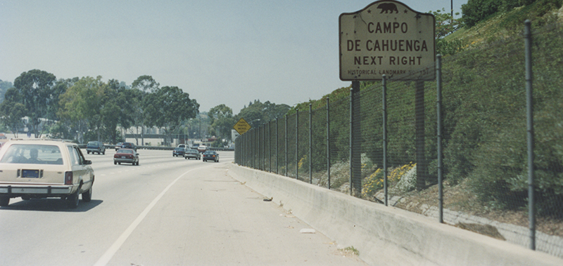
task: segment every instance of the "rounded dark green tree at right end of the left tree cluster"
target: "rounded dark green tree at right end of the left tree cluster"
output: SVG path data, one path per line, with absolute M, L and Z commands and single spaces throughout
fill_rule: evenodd
M 199 104 L 190 100 L 189 94 L 177 86 L 164 86 L 145 97 L 146 121 L 159 128 L 164 128 L 170 137 L 182 126 L 182 121 L 196 117 Z

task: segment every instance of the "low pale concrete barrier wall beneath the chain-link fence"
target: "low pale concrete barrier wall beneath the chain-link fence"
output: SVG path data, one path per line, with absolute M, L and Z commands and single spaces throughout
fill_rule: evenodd
M 281 175 L 234 164 L 229 175 L 339 245 L 353 246 L 369 265 L 563 265 L 546 253 Z

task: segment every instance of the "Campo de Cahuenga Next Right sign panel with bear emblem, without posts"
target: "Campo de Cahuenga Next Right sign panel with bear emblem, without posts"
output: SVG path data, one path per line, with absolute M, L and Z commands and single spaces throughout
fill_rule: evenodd
M 435 79 L 434 15 L 399 1 L 376 1 L 339 17 L 343 81 Z

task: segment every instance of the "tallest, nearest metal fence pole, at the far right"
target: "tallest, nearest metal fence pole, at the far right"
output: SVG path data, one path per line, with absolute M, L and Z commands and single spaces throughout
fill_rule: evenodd
M 530 249 L 536 250 L 536 210 L 534 208 L 533 184 L 533 73 L 532 73 L 532 34 L 531 21 L 524 22 L 524 39 L 526 42 L 526 129 L 528 131 L 528 218 L 530 224 Z

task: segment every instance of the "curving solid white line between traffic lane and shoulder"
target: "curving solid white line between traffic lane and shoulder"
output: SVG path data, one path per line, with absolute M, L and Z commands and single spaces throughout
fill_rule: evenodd
M 151 202 L 151 204 L 148 204 L 148 206 L 146 206 L 146 208 L 144 209 L 144 211 L 139 214 L 139 216 L 137 217 L 137 219 L 135 219 L 131 225 L 129 225 L 129 227 L 127 227 L 127 229 L 125 230 L 125 232 L 123 232 L 120 237 L 115 240 L 115 242 L 113 242 L 113 244 L 110 246 L 110 248 L 108 249 L 108 251 L 106 251 L 106 253 L 103 253 L 103 255 L 101 256 L 101 258 L 94 264 L 94 266 L 105 266 L 108 264 L 108 262 L 111 260 L 111 258 L 113 258 L 113 255 L 115 255 L 116 252 L 118 252 L 118 250 L 121 248 L 121 246 L 123 245 L 123 243 L 125 243 L 125 240 L 127 240 L 127 238 L 132 234 L 132 232 L 135 230 L 135 228 L 137 228 L 137 226 L 144 220 L 144 218 L 146 217 L 146 215 L 148 214 L 148 212 L 151 211 L 151 209 L 156 205 L 156 203 L 160 200 L 160 198 L 162 198 L 164 196 L 164 194 L 168 191 L 168 189 L 170 189 L 170 187 L 172 187 L 172 185 L 174 185 L 176 183 L 176 181 L 178 181 L 180 178 L 182 178 L 184 175 L 186 175 L 187 173 L 191 172 L 191 171 L 195 171 L 198 170 L 200 168 L 204 168 L 205 166 L 199 167 L 199 168 L 195 168 L 195 169 L 191 169 L 189 171 L 186 171 L 186 173 L 182 173 L 182 175 L 180 175 L 179 177 L 177 177 L 174 181 L 172 181 L 170 183 L 170 185 L 168 185 L 163 192 L 160 192 L 160 194 L 158 194 L 158 196 L 153 199 L 153 201 Z

